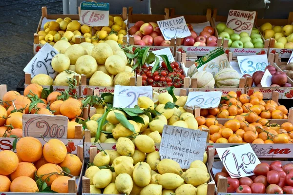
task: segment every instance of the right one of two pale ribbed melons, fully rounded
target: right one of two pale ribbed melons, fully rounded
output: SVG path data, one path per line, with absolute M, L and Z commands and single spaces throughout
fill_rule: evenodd
M 238 88 L 240 76 L 232 68 L 224 68 L 215 75 L 215 86 L 217 88 Z

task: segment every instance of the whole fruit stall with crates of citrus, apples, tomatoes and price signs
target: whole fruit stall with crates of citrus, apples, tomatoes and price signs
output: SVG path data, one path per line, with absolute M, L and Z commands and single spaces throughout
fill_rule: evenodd
M 49 11 L 0 83 L 0 194 L 293 194 L 293 12 Z

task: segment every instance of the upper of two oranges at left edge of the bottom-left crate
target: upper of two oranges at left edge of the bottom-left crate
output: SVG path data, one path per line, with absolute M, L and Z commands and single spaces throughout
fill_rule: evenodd
M 12 174 L 18 166 L 17 155 L 10 150 L 0 152 L 0 175 L 8 176 Z

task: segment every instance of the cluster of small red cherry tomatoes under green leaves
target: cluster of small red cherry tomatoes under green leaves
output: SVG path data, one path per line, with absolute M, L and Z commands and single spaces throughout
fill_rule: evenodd
M 152 66 L 144 64 L 142 67 L 136 69 L 136 74 L 142 76 L 143 86 L 150 85 L 152 87 L 169 87 L 176 88 L 183 87 L 184 72 L 177 62 L 170 63 L 172 72 L 167 69 L 166 63 L 163 61 L 160 68 L 154 73 Z

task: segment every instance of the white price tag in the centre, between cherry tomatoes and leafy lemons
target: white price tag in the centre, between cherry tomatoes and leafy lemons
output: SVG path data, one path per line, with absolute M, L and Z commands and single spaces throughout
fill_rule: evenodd
M 139 97 L 152 99 L 151 86 L 121 86 L 115 85 L 113 106 L 118 108 L 134 108 Z

